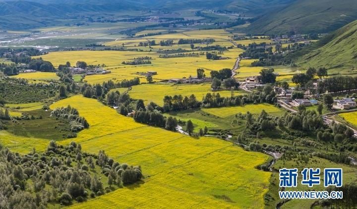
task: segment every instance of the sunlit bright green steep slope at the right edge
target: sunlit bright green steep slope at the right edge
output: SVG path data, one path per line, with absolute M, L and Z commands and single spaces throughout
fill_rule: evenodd
M 331 33 L 298 58 L 302 66 L 351 68 L 357 64 L 357 21 Z

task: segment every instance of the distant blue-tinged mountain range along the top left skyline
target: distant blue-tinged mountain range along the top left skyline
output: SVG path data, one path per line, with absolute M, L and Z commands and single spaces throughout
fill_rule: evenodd
M 123 15 L 128 11 L 229 10 L 260 14 L 293 0 L 0 0 L 0 29 L 22 30 L 86 21 L 89 16 Z M 183 16 L 184 17 L 184 16 Z M 72 22 L 71 22 L 72 21 Z

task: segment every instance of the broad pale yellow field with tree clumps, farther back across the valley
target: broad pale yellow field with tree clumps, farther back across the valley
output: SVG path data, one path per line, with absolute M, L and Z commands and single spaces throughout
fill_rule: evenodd
M 222 60 L 207 60 L 206 56 L 198 57 L 177 57 L 177 58 L 159 58 L 156 52 L 118 52 L 118 51 L 69 51 L 69 52 L 51 52 L 43 55 L 43 59 L 51 61 L 55 66 L 69 61 L 72 65 L 76 61 L 86 61 L 88 64 L 106 64 L 106 69 L 112 73 L 105 75 L 86 76 L 85 81 L 95 84 L 103 83 L 108 80 L 123 80 L 140 77 L 141 82 L 146 82 L 140 72 L 157 71 L 154 75 L 154 81 L 172 78 L 183 78 L 196 75 L 197 68 L 204 68 L 209 76 L 211 70 L 220 70 L 222 68 L 233 68 L 236 57 L 242 51 L 232 49 L 225 52 L 223 56 L 230 57 Z M 124 60 L 134 57 L 151 56 L 152 64 L 146 65 L 124 65 Z

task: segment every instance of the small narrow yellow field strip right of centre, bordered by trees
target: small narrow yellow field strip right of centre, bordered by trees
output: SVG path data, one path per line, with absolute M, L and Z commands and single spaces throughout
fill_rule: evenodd
M 218 117 L 228 117 L 237 113 L 245 114 L 249 111 L 252 114 L 260 114 L 262 110 L 265 110 L 269 114 L 281 114 L 283 110 L 275 107 L 271 104 L 247 104 L 244 106 L 230 106 L 230 107 L 219 107 L 219 108 L 202 108 L 203 111 L 216 115 Z

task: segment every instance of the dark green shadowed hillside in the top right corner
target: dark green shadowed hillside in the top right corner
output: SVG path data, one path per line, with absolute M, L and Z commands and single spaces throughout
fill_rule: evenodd
M 248 28 L 253 34 L 328 33 L 357 19 L 356 0 L 297 0 L 262 15 Z

